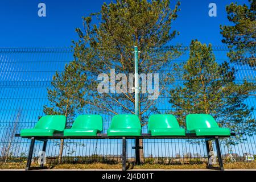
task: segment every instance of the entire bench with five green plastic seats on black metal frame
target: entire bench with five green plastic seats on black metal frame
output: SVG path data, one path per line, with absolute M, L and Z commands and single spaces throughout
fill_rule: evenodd
M 31 169 L 35 140 L 43 143 L 46 152 L 49 139 L 122 139 L 122 170 L 126 170 L 126 139 L 205 139 L 208 159 L 210 158 L 209 142 L 215 140 L 219 167 L 208 165 L 210 169 L 224 170 L 220 149 L 220 138 L 235 136 L 230 130 L 220 128 L 211 115 L 190 114 L 186 118 L 187 133 L 181 129 L 177 119 L 170 114 L 151 115 L 148 121 L 148 134 L 141 134 L 141 122 L 137 115 L 115 115 L 107 134 L 102 134 L 102 117 L 100 115 L 80 115 L 71 129 L 65 129 L 64 115 L 46 115 L 39 119 L 34 129 L 21 130 L 15 137 L 31 139 L 28 151 L 26 170 Z M 43 168 L 43 164 L 40 168 Z

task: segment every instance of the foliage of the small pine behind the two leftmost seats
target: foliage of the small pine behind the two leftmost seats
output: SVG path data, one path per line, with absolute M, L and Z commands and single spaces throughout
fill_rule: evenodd
M 75 110 L 84 107 L 86 75 L 72 61 L 65 65 L 64 72 L 56 72 L 52 78 L 52 88 L 47 89 L 49 105 L 44 105 L 44 113 L 61 114 L 73 120 Z

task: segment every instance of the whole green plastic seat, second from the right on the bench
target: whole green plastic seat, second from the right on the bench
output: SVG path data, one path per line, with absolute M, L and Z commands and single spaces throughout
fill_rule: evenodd
M 185 136 L 185 129 L 181 129 L 177 119 L 171 114 L 151 115 L 148 120 L 148 133 L 151 136 Z

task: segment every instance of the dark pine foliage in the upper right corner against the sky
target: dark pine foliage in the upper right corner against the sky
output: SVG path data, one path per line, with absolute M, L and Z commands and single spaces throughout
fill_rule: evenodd
M 256 44 L 256 1 L 250 0 L 250 7 L 231 3 L 226 6 L 228 20 L 232 26 L 221 26 L 221 34 L 224 37 L 222 43 L 228 44 L 232 49 L 228 53 L 234 63 L 248 64 L 256 67 L 255 54 Z M 246 55 L 249 53 L 250 55 Z

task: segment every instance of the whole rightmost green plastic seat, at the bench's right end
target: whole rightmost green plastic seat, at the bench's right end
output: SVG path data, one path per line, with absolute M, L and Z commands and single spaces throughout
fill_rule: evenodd
M 228 128 L 221 128 L 209 114 L 189 114 L 186 117 L 188 133 L 197 136 L 230 136 Z

